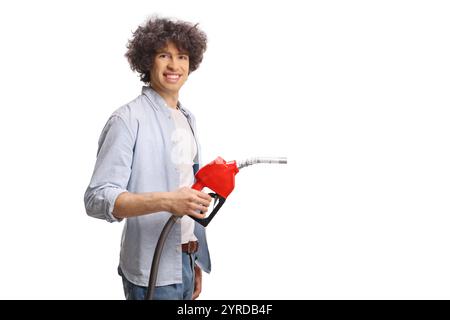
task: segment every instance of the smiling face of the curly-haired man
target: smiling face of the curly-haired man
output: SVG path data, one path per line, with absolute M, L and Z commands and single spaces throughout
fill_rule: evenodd
M 179 51 L 172 42 L 155 54 L 150 70 L 150 83 L 162 96 L 178 96 L 189 75 L 189 55 Z

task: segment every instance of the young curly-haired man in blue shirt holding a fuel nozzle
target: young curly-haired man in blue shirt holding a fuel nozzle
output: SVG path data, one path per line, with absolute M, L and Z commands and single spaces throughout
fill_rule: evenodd
M 148 20 L 133 33 L 126 57 L 147 84 L 116 110 L 99 139 L 97 162 L 84 201 L 86 212 L 125 220 L 119 274 L 126 299 L 144 299 L 160 232 L 171 214 L 182 216 L 164 246 L 155 299 L 196 299 L 201 269 L 211 263 L 202 218 L 211 197 L 193 190 L 200 150 L 195 118 L 178 101 L 200 65 L 206 35 L 190 23 Z M 201 269 L 200 269 L 201 268 Z

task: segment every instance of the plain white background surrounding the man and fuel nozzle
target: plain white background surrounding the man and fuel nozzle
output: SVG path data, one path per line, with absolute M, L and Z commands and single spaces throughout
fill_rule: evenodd
M 201 298 L 450 298 L 445 1 L 78 0 L 0 4 L 1 299 L 123 299 L 123 224 L 83 194 L 151 14 L 208 34 L 204 161 L 289 159 L 236 176 Z

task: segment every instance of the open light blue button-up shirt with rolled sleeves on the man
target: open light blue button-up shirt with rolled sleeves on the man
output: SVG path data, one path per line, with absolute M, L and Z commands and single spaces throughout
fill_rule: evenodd
M 200 163 L 195 118 L 183 106 L 179 107 L 197 143 L 195 173 Z M 171 161 L 170 137 L 175 130 L 171 117 L 164 99 L 150 87 L 143 87 L 140 96 L 111 115 L 100 135 L 94 173 L 84 195 L 89 216 L 119 221 L 112 211 L 122 192 L 161 192 L 178 188 L 180 175 Z M 126 219 L 119 267 L 130 282 L 148 285 L 156 243 L 170 215 L 157 212 Z M 196 262 L 209 273 L 211 261 L 204 227 L 195 223 L 194 234 L 199 241 Z M 182 283 L 181 261 L 181 226 L 177 222 L 164 245 L 156 285 Z

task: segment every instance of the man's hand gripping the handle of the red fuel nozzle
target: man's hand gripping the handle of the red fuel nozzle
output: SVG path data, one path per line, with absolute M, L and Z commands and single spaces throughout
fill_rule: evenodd
M 202 219 L 205 217 L 212 200 L 209 194 L 188 187 L 182 187 L 176 191 L 169 192 L 169 194 L 168 211 L 176 216 L 188 214 Z M 197 210 L 202 213 L 198 213 Z

